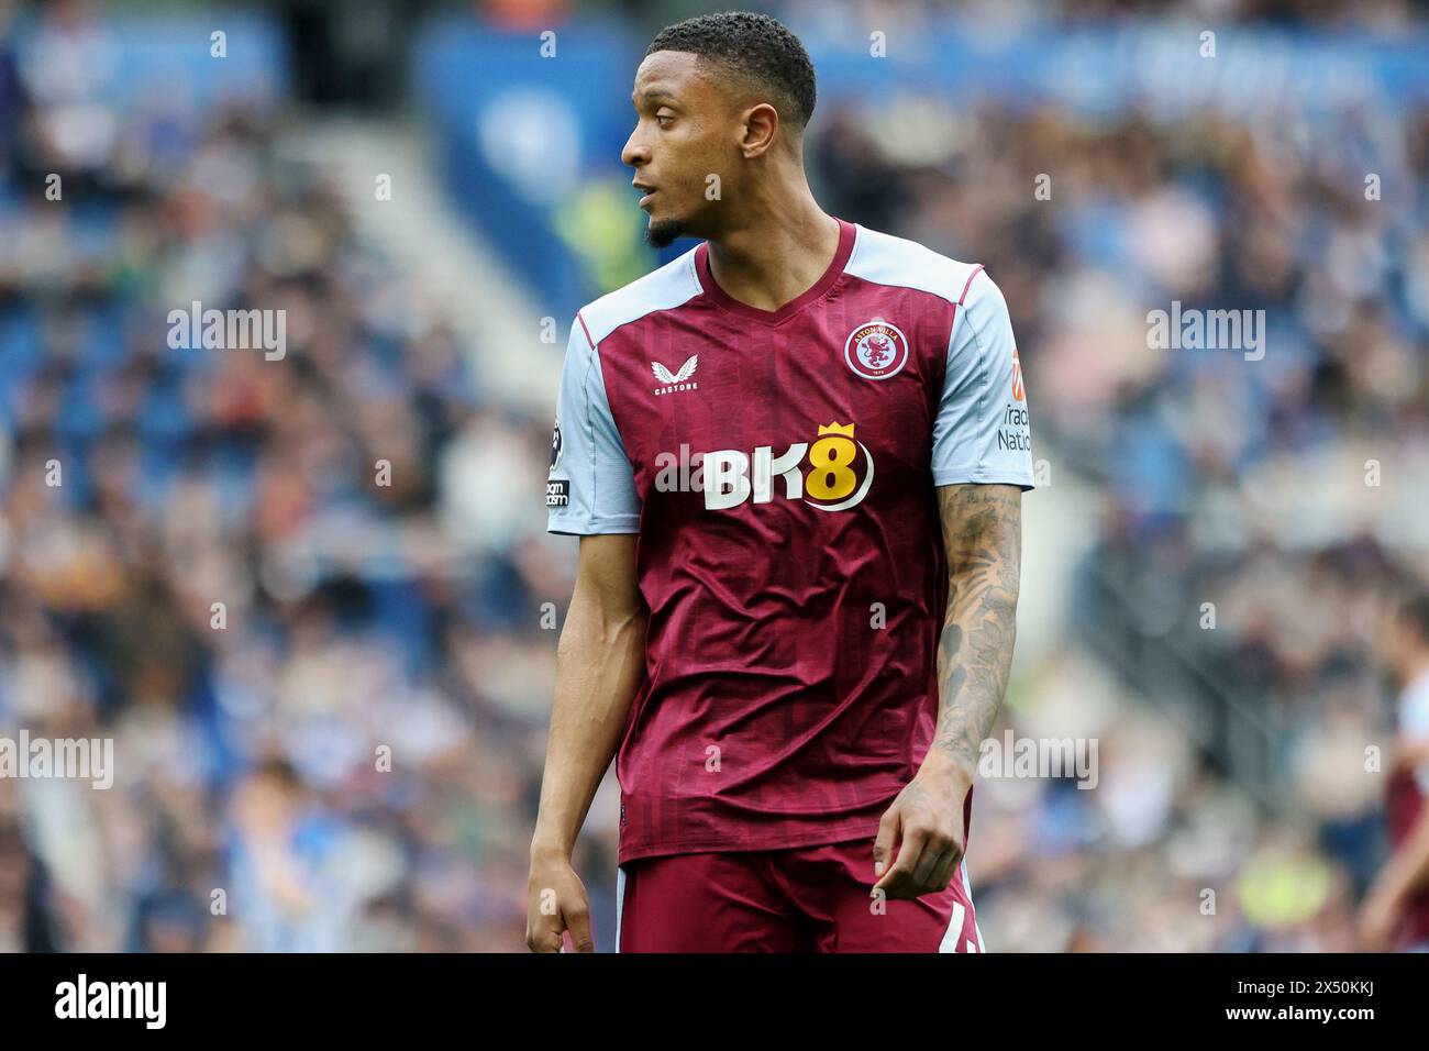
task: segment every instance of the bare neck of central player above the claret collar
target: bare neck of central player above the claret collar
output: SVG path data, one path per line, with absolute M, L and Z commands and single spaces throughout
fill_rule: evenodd
M 823 276 L 839 250 L 839 220 L 797 177 L 752 187 L 735 229 L 709 239 L 710 276 L 733 299 L 777 310 Z

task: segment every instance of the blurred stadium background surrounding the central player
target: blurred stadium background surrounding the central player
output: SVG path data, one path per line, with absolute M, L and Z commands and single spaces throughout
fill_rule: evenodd
M 1096 738 L 1099 784 L 980 784 L 989 948 L 1352 948 L 1376 625 L 1429 575 L 1423 7 L 756 7 L 819 69 L 825 207 L 986 263 L 1019 336 L 997 735 Z M 700 10 L 0 1 L 0 735 L 117 766 L 0 781 L 0 949 L 523 948 L 560 349 L 659 262 L 629 83 Z M 286 357 L 170 349 L 193 300 L 284 309 Z M 1172 300 L 1265 309 L 1263 360 L 1149 349 Z

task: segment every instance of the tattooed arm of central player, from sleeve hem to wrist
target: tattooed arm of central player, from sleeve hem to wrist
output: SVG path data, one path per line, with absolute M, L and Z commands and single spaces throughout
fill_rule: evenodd
M 1017 635 L 1022 490 L 1012 485 L 937 489 L 947 552 L 947 613 L 937 643 L 933 748 L 977 768 L 1007 689 Z

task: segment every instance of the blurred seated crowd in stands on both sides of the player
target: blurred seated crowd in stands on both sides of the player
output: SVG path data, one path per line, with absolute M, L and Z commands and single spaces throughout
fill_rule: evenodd
M 100 31 L 0 30 L 0 736 L 116 754 L 109 791 L 0 779 L 0 949 L 519 949 L 573 566 L 549 420 L 487 393 L 490 349 L 353 237 L 280 114 L 46 76 Z M 1005 715 L 1096 736 L 1099 785 L 979 784 L 989 948 L 1352 948 L 1376 618 L 1429 573 L 1429 112 L 947 116 L 822 113 L 812 167 L 830 212 L 986 263 L 1037 455 L 1099 499 Z M 286 310 L 286 356 L 171 347 L 194 300 Z M 1268 353 L 1150 347 L 1170 300 L 1265 309 Z M 1162 696 L 1177 661 L 1218 681 Z M 1226 712 L 1265 726 L 1263 784 Z M 607 781 L 597 918 L 614 837 Z

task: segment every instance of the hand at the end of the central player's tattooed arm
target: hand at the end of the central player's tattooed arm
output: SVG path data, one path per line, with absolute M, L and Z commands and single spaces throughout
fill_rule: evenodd
M 947 888 L 963 859 L 963 799 L 972 776 L 952 766 L 929 766 L 899 792 L 879 821 L 873 875 L 889 898 L 919 898 Z M 889 858 L 897 844 L 897 858 Z

